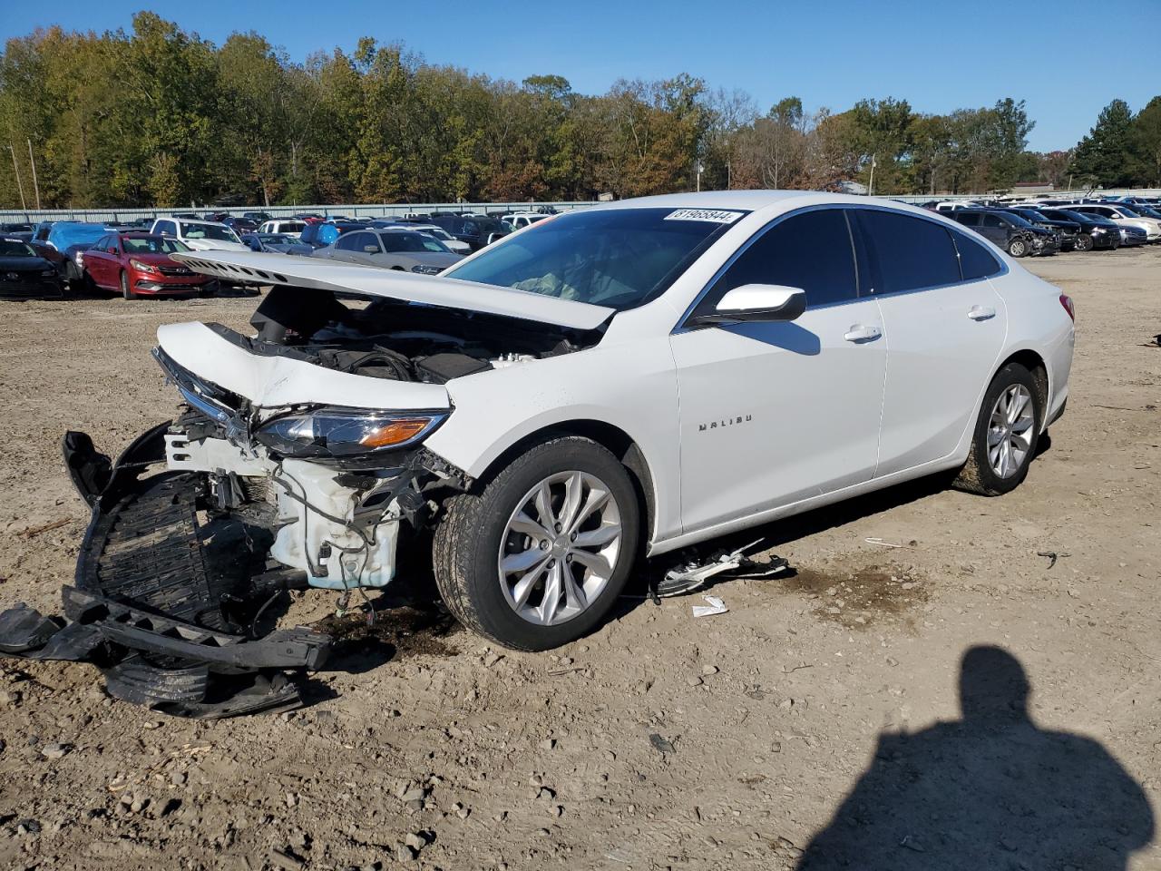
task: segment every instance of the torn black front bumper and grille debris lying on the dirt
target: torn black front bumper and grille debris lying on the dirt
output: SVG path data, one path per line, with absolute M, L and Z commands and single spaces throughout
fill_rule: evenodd
M 0 655 L 91 662 L 115 698 L 176 717 L 300 707 L 297 678 L 323 667 L 331 639 L 304 627 L 257 634 L 260 600 L 297 578 L 255 573 L 228 531 L 207 533 L 194 475 L 142 476 L 165 461 L 168 426 L 116 462 L 88 436 L 65 434 L 65 465 L 92 508 L 74 585 L 63 590 L 64 619 L 23 603 L 0 613 Z

